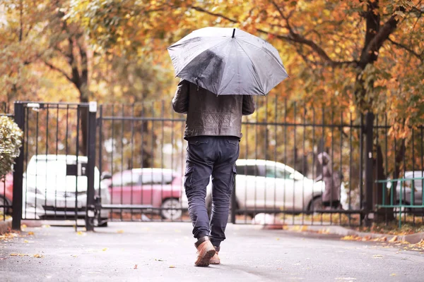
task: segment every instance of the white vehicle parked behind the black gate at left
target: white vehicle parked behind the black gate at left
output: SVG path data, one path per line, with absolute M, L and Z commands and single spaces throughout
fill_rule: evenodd
M 39 154 L 28 162 L 23 178 L 23 219 L 83 219 L 86 215 L 87 157 Z M 102 203 L 110 203 L 110 193 L 94 169 L 95 195 L 101 190 Z M 107 225 L 109 212 L 102 210 L 98 220 Z

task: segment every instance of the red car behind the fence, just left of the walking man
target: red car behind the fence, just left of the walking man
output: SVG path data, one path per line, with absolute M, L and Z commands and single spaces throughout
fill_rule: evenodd
M 112 204 L 145 204 L 160 209 L 164 219 L 182 216 L 182 178 L 167 168 L 133 168 L 108 180 Z

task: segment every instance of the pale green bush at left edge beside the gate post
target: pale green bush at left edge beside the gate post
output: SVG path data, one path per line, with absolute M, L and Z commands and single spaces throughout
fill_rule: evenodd
M 6 176 L 19 156 L 22 130 L 11 118 L 0 116 L 0 180 Z

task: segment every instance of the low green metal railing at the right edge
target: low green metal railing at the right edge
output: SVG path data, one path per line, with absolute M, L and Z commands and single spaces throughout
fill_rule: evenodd
M 396 191 L 394 189 L 390 189 L 390 203 L 386 203 L 386 195 L 387 195 L 387 185 L 383 187 L 383 202 L 382 204 L 377 204 L 377 208 L 399 208 L 399 228 L 402 226 L 402 208 L 404 209 L 424 209 L 424 193 L 421 192 L 421 204 L 414 204 L 416 197 L 416 180 L 424 180 L 424 177 L 413 177 L 413 178 L 398 178 L 398 179 L 388 179 L 388 180 L 377 180 L 376 183 L 391 183 L 391 188 L 394 187 L 393 183 L 397 182 L 399 186 L 399 200 L 396 199 L 397 195 L 397 185 Z M 404 183 L 406 181 L 411 181 L 411 186 L 406 186 Z M 421 185 L 421 190 L 423 189 Z M 404 194 L 406 194 L 406 189 L 411 189 L 411 197 L 409 199 L 404 198 Z M 386 190 L 386 192 L 384 192 Z M 409 200 L 409 203 L 406 202 Z

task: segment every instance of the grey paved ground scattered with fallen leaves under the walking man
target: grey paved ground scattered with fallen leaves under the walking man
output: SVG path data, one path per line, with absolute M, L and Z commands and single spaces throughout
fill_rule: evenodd
M 420 252 L 330 235 L 230 224 L 222 264 L 199 268 L 189 223 L 28 232 L 0 241 L 0 281 L 424 281 Z

